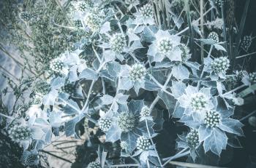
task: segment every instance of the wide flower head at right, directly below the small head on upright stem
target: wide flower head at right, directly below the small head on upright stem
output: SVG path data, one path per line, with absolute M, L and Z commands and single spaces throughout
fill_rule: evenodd
M 230 60 L 227 57 L 217 57 L 211 63 L 211 70 L 214 73 L 226 73 L 230 67 Z

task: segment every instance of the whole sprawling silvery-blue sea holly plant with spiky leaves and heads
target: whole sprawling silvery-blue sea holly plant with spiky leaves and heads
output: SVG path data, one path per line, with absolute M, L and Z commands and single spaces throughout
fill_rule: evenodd
M 108 157 L 99 150 L 97 161 L 87 161 L 87 167 L 165 167 L 184 156 L 198 162 L 208 153 L 220 156 L 231 145 L 228 140 L 244 135 L 233 114 L 247 94 L 238 91 L 254 88 L 256 75 L 232 72 L 221 32 L 228 28 L 222 28 L 220 16 L 206 20 L 203 32 L 199 15 L 187 18 L 195 4 L 183 0 L 161 7 L 152 1 L 45 3 L 18 15 L 31 29 L 31 52 L 47 69 L 32 82 L 31 96 L 39 101 L 29 106 L 26 120 L 7 116 L 8 135 L 23 145 L 27 166 L 38 163 L 37 151 L 51 143 L 53 134 L 79 138 L 78 125 L 85 118 L 86 130 L 93 123 L 94 135 L 103 135 L 101 145 L 110 142 L 121 151 Z M 211 5 L 204 11 L 215 15 Z M 53 9 L 58 12 L 52 16 Z M 201 15 L 210 18 L 208 12 Z M 242 40 L 241 47 L 249 49 L 251 40 Z M 232 80 L 237 86 L 229 89 Z M 162 113 L 169 114 L 166 122 L 175 120 L 173 125 L 187 130 L 177 135 L 177 153 L 167 158 L 155 138 L 162 133 Z

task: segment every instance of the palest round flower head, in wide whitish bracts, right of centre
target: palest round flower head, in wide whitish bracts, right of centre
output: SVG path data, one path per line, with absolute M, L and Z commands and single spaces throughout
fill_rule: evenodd
M 206 95 L 200 92 L 195 93 L 194 95 L 192 95 L 190 105 L 193 111 L 203 110 L 204 108 L 206 108 L 207 105 Z

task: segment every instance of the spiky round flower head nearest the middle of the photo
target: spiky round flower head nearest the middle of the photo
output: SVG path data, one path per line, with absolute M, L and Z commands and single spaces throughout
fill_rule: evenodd
M 146 68 L 136 63 L 135 65 L 132 65 L 132 68 L 129 70 L 129 79 L 131 81 L 141 81 L 146 76 Z

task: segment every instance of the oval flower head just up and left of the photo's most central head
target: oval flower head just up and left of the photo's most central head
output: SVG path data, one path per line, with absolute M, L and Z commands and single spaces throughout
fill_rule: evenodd
M 110 39 L 110 45 L 111 45 L 111 49 L 114 52 L 120 53 L 123 51 L 124 46 L 126 45 L 126 39 L 124 36 L 122 36 L 121 33 L 116 33 Z

